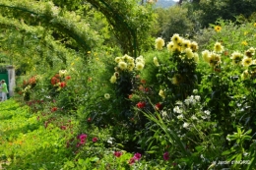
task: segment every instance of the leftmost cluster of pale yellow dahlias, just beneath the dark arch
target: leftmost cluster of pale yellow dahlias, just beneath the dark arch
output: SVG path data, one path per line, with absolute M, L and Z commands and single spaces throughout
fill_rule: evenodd
M 115 67 L 115 73 L 110 78 L 111 84 L 116 83 L 116 80 L 119 76 L 119 72 L 121 71 L 132 72 L 134 70 L 142 71 L 145 66 L 145 60 L 143 56 L 139 56 L 134 60 L 134 58 L 125 54 L 123 57 L 116 57 L 114 61 L 117 63 L 117 67 Z

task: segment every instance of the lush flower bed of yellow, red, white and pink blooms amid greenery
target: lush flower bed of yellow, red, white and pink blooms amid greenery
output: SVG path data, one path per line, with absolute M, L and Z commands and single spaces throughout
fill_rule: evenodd
M 33 68 L 0 103 L 0 169 L 255 169 L 255 38 L 219 20 Z

